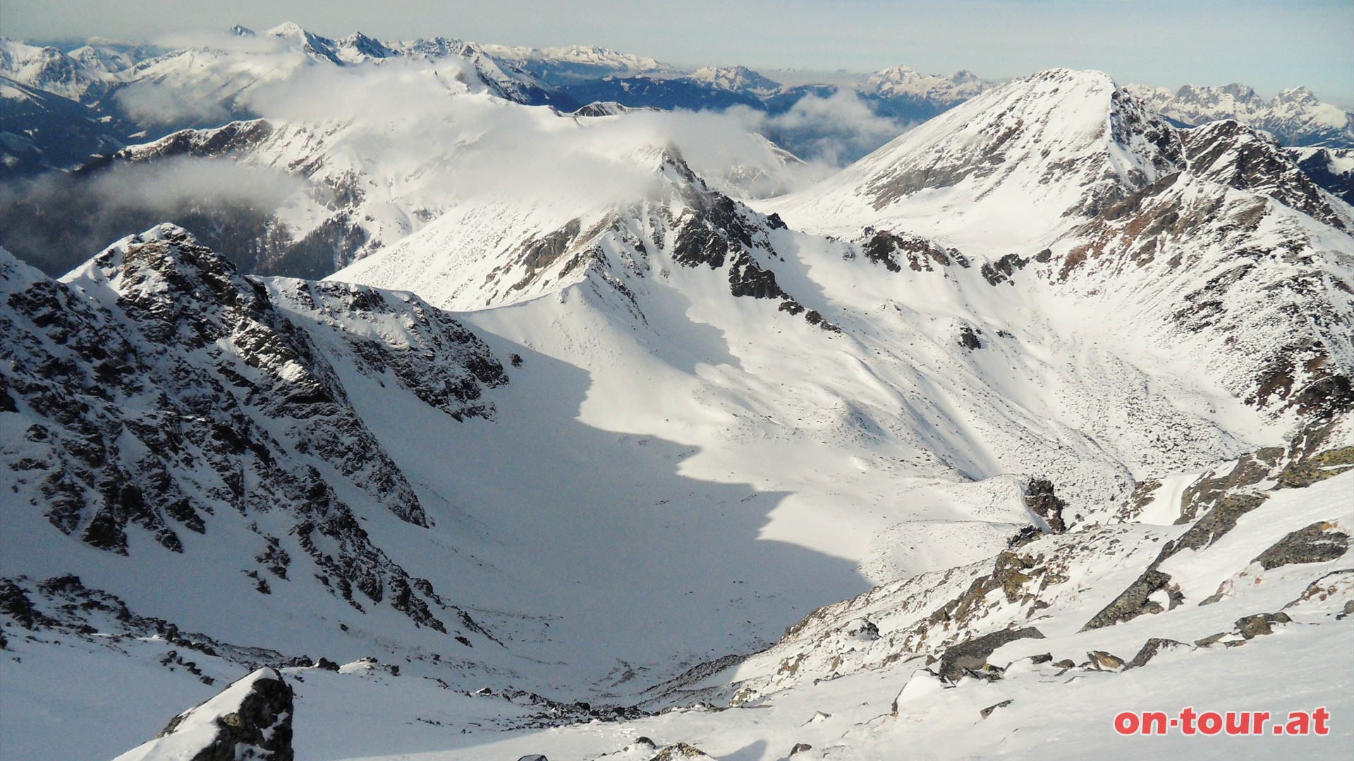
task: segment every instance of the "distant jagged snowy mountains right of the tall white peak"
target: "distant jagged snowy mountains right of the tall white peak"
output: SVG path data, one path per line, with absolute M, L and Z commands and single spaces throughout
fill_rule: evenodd
M 1265 100 L 1243 84 L 1169 88 L 1129 87 L 1163 115 L 1185 125 L 1236 119 L 1270 131 L 1289 146 L 1354 148 L 1354 114 L 1322 103 L 1312 91 L 1294 87 Z

